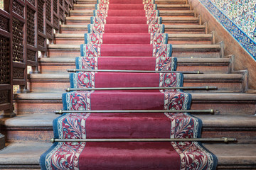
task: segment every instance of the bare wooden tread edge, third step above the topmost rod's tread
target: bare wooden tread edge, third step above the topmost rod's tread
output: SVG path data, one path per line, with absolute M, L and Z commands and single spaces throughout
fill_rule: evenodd
M 120 34 L 121 35 L 121 34 Z M 168 38 L 212 38 L 212 34 L 168 34 Z M 85 34 L 57 33 L 55 38 L 85 38 Z

